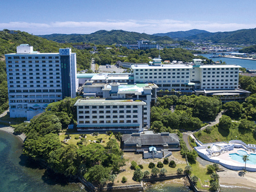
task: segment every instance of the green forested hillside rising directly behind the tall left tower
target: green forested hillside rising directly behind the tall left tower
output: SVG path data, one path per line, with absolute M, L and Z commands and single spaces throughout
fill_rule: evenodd
M 20 44 L 29 44 L 33 46 L 34 51 L 52 53 L 59 52 L 59 48 L 72 48 L 76 52 L 78 69 L 87 69 L 90 66 L 90 53 L 88 50 L 77 50 L 71 44 L 61 44 L 47 40 L 27 32 L 17 31 L 17 34 L 10 34 L 9 30 L 0 32 L 0 57 L 4 60 L 4 54 L 16 53 L 16 46 Z

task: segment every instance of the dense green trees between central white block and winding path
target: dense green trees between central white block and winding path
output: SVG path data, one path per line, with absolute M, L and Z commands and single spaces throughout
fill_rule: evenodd
M 170 107 L 175 106 L 171 112 Z M 196 130 L 203 126 L 202 120 L 212 120 L 222 104 L 218 98 L 206 96 L 158 97 L 151 108 L 151 128 L 156 132 L 171 132 L 172 129 Z

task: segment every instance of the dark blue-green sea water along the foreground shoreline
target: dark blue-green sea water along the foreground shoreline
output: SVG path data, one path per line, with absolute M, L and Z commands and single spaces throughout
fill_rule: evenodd
M 80 183 L 69 183 L 21 154 L 20 139 L 0 131 L 0 192 L 86 192 Z M 175 181 L 158 182 L 146 188 L 146 192 L 190 191 Z M 247 188 L 222 187 L 222 192 L 242 191 L 255 192 Z

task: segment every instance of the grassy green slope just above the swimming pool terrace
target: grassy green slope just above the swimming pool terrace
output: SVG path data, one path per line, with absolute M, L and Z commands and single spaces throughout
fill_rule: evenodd
M 196 132 L 195 135 L 203 143 L 242 140 L 246 144 L 256 144 L 252 131 L 244 132 L 244 130 L 239 130 L 238 123 L 233 122 L 233 126 L 229 130 L 219 129 L 218 126 L 213 126 L 212 128 L 213 130 L 210 133 L 202 131 L 201 134 Z

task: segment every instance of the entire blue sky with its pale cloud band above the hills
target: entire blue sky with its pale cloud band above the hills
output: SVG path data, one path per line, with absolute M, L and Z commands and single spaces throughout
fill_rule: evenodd
M 33 34 L 232 31 L 256 28 L 255 9 L 255 0 L 4 0 L 0 30 Z

